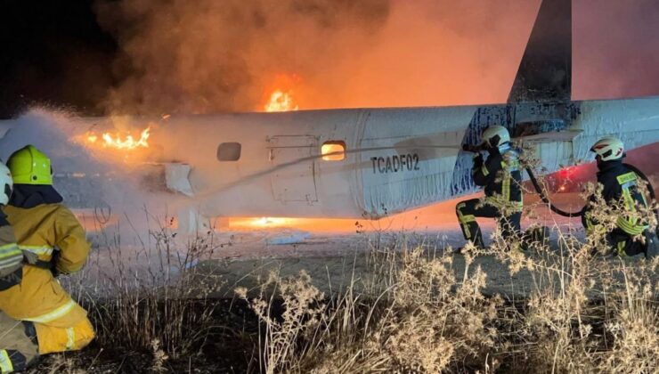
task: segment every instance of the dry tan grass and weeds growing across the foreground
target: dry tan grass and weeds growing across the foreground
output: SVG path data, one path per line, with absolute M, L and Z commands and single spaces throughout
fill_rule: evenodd
M 620 211 L 602 201 L 594 204 L 595 218 L 613 227 Z M 651 211 L 637 214 L 656 225 Z M 354 274 L 339 293 L 324 295 L 307 272 L 294 277 L 273 272 L 256 297 L 236 289 L 257 327 L 242 332 L 253 337 L 246 349 L 256 352 L 256 357 L 246 354 L 254 361 L 248 370 L 657 372 L 659 259 L 603 258 L 605 231 L 580 242 L 558 225 L 554 229 L 557 246 L 528 243 L 532 249 L 526 253 L 494 232 L 490 248 L 464 251 L 466 266 L 459 274 L 450 251 L 408 247 L 405 240 L 387 247 L 372 240 L 368 263 L 374 275 Z M 191 371 L 193 357 L 219 338 L 214 330 L 240 329 L 218 325 L 216 304 L 207 298 L 218 282 L 192 266 L 216 248 L 212 233 L 193 240 L 184 256 L 172 248 L 172 235 L 167 228 L 152 232 L 156 266 L 135 271 L 117 245 L 109 256 L 112 272 L 75 288 L 90 307 L 97 344 L 146 352 L 154 372 L 186 359 Z M 529 272 L 528 297 L 485 296 L 487 274 L 474 265 L 476 256 L 496 257 L 510 274 Z M 55 371 L 90 368 L 89 362 L 51 360 Z

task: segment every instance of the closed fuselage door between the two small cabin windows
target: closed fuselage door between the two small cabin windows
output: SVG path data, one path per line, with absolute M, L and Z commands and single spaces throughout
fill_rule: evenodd
M 316 193 L 317 140 L 314 136 L 273 136 L 270 142 L 271 182 L 275 200 L 305 202 L 318 201 Z

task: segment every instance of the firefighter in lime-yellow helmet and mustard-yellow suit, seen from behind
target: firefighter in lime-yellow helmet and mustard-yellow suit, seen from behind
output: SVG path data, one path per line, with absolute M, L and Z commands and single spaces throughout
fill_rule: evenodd
M 53 188 L 50 159 L 28 145 L 12 154 L 7 167 L 13 193 L 4 213 L 25 264 L 20 285 L 0 291 L 0 330 L 17 331 L 0 338 L 3 373 L 20 370 L 38 354 L 81 349 L 94 338 L 85 309 L 53 275 L 82 269 L 90 247 L 85 231 Z M 8 354 L 16 351 L 15 357 Z

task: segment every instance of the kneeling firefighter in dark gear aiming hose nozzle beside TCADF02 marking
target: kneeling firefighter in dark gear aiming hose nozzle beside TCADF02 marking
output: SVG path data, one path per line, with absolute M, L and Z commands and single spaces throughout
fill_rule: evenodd
M 465 240 L 477 248 L 484 248 L 484 242 L 476 217 L 496 218 L 503 238 L 513 243 L 520 232 L 523 207 L 519 154 L 510 144 L 508 130 L 490 126 L 484 130 L 482 140 L 481 146 L 466 150 L 475 152 L 472 176 L 476 185 L 484 187 L 485 199 L 460 201 L 455 207 Z M 486 160 L 481 150 L 489 153 Z

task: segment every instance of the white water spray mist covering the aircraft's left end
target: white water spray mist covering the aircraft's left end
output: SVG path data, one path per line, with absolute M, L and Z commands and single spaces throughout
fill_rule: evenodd
M 12 128 L 0 138 L 0 159 L 9 159 L 26 144 L 35 145 L 51 159 L 55 189 L 68 207 L 85 215 L 81 221 L 87 230 L 100 227 L 94 223 L 97 215 L 111 213 L 122 222 L 111 226 L 112 230 L 120 230 L 126 240 L 139 235 L 143 239 L 147 229 L 154 229 L 151 226 L 174 216 L 185 199 L 165 191 L 164 170 L 158 165 L 142 162 L 133 153 L 104 152 L 101 147 L 89 148 L 77 142 L 90 126 L 116 127 L 115 119 L 110 118 L 110 122 L 91 123 L 65 111 L 29 110 L 12 120 Z

